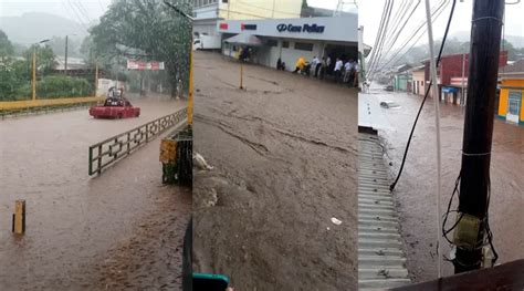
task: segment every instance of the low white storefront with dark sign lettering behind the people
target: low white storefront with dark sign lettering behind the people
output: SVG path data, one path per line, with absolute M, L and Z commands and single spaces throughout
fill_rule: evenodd
M 325 18 L 294 18 L 266 20 L 219 21 L 217 32 L 222 34 L 222 53 L 237 56 L 241 46 L 253 51 L 253 62 L 276 66 L 279 58 L 286 70 L 294 70 L 298 58 L 311 61 L 315 55 L 358 60 L 357 14 Z M 229 43 L 235 35 L 252 43 Z M 239 39 L 237 37 L 235 39 Z M 254 38 L 253 38 L 254 37 Z

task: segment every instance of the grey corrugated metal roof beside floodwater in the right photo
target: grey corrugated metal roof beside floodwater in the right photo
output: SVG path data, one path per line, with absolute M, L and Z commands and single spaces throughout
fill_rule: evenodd
M 358 290 L 411 283 L 388 168 L 376 135 L 358 136 Z

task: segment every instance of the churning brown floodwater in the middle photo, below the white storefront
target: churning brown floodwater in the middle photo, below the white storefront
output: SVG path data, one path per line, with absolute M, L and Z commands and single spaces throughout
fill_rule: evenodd
M 357 91 L 195 55 L 193 264 L 235 290 L 355 290 Z M 332 217 L 342 220 L 337 226 Z

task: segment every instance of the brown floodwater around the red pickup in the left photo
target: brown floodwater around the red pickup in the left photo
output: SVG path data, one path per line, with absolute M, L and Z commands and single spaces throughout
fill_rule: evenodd
M 94 119 L 87 110 L 0 121 L 0 290 L 178 289 L 187 189 L 161 185 L 159 138 L 87 176 L 87 148 L 181 108 L 155 96 L 142 116 Z M 11 233 L 14 200 L 27 232 Z

